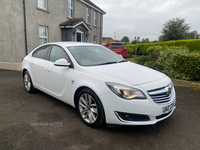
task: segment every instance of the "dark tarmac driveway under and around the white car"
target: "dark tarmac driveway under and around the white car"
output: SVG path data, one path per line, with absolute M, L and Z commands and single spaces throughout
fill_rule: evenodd
M 200 91 L 175 88 L 177 108 L 168 119 L 152 126 L 93 129 L 67 104 L 42 92 L 28 94 L 21 72 L 0 70 L 0 149 L 200 149 Z

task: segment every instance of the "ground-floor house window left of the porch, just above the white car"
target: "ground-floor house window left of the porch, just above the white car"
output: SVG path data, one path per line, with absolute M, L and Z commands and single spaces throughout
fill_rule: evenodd
M 39 26 L 39 41 L 40 45 L 48 42 L 48 28 L 45 26 Z

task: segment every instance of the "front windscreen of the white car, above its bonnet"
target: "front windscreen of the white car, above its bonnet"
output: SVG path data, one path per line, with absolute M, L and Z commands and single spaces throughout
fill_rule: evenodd
M 103 46 L 74 46 L 67 48 L 81 66 L 107 65 L 126 61 Z

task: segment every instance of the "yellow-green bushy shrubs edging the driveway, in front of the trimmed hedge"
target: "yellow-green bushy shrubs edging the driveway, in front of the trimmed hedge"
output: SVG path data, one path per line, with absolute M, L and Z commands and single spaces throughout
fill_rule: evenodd
M 190 52 L 186 46 L 154 46 L 146 65 L 166 75 L 184 80 L 200 80 L 200 53 Z

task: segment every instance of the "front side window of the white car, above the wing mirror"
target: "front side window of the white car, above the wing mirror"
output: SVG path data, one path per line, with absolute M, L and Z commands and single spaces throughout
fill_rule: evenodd
M 50 61 L 55 62 L 58 59 L 64 58 L 69 62 L 69 57 L 66 52 L 59 46 L 53 46 L 50 54 Z

